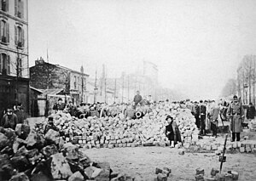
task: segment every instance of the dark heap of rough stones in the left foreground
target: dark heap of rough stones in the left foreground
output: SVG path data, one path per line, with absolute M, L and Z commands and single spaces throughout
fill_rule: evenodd
M 0 127 L 0 180 L 134 180 L 113 173 L 108 162 L 93 162 L 79 145 L 50 129 L 45 135 L 20 124 Z

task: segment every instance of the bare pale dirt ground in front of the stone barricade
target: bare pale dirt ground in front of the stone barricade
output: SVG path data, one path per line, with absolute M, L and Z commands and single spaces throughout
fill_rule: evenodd
M 195 169 L 202 167 L 210 175 L 212 167 L 219 169 L 220 162 L 215 154 L 185 153 L 178 155 L 177 149 L 169 147 L 136 147 L 85 150 L 92 161 L 108 161 L 113 172 L 129 173 L 144 180 L 154 180 L 156 167 L 172 168 L 168 180 L 195 180 Z M 223 173 L 236 171 L 239 180 L 256 180 L 256 155 L 227 154 Z

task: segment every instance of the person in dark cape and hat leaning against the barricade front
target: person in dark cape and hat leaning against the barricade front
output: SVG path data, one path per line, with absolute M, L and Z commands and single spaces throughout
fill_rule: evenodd
M 166 116 L 168 125 L 166 126 L 166 137 L 170 140 L 171 148 L 174 147 L 177 142 L 181 142 L 181 135 L 177 127 L 177 123 L 173 122 L 172 116 Z

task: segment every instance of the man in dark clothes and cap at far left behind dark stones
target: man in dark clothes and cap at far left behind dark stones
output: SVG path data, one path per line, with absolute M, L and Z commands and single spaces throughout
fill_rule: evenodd
M 9 106 L 7 109 L 7 113 L 3 115 L 0 126 L 4 128 L 12 128 L 13 130 L 15 130 L 17 124 L 18 117 L 15 115 L 13 108 Z

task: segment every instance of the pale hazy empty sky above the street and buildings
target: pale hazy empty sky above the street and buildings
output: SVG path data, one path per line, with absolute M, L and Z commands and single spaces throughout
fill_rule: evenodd
M 30 66 L 39 57 L 95 77 L 137 70 L 190 99 L 215 99 L 256 54 L 255 0 L 29 0 Z M 97 68 L 96 68 L 97 67 Z

